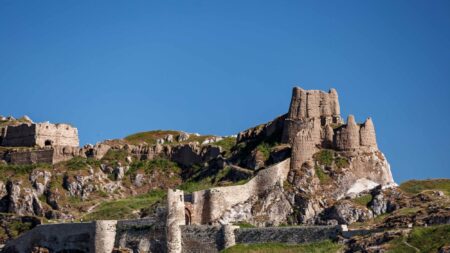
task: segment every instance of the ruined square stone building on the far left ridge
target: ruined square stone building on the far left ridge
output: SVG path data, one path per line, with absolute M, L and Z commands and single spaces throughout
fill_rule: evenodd
M 23 123 L 0 128 L 0 146 L 78 147 L 78 130 L 68 124 Z

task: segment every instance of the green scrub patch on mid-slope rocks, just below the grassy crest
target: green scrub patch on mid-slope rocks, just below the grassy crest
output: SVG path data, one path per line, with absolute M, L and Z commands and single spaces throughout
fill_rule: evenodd
M 180 167 L 175 163 L 165 158 L 156 158 L 153 160 L 137 161 L 130 165 L 130 169 L 126 175 L 134 175 L 138 170 L 142 170 L 145 174 L 151 174 L 155 170 L 164 172 L 180 173 Z

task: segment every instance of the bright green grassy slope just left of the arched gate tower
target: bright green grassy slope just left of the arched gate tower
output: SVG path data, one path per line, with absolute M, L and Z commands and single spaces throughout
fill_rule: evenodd
M 153 190 L 147 194 L 125 199 L 106 201 L 101 203 L 92 213 L 87 214 L 86 220 L 121 220 L 136 218 L 134 213 L 147 208 L 165 197 L 165 191 Z

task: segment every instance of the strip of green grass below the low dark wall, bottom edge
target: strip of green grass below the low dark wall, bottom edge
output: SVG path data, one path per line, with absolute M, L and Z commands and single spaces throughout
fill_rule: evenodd
M 340 252 L 342 245 L 331 241 L 308 244 L 260 243 L 238 244 L 222 253 L 333 253 Z

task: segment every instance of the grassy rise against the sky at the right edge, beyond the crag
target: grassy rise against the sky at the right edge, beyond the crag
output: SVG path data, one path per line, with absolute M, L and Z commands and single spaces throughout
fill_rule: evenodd
M 410 180 L 402 183 L 400 189 L 411 194 L 427 190 L 438 190 L 450 196 L 450 179 Z

